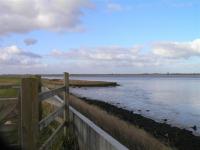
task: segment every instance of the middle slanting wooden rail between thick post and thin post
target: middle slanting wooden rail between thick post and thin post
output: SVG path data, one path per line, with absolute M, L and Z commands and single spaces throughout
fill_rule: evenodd
M 42 119 L 39 122 L 39 129 L 42 130 L 46 126 L 48 126 L 56 117 L 58 117 L 64 110 L 64 105 L 57 108 L 54 112 L 50 113 L 46 118 Z

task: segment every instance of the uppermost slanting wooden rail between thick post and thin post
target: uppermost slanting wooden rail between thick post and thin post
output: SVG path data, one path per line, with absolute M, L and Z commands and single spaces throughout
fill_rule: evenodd
M 59 87 L 57 89 L 53 89 L 51 91 L 42 92 L 42 93 L 39 94 L 38 99 L 40 101 L 42 101 L 42 100 L 50 98 L 54 95 L 57 95 L 59 92 L 63 92 L 63 91 L 65 91 L 65 86 Z

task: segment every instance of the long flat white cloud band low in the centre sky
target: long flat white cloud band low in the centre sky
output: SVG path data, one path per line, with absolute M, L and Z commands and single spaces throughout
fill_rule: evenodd
M 133 59 L 135 55 L 138 55 L 140 46 L 124 48 L 120 46 L 102 46 L 94 48 L 79 48 L 71 49 L 69 51 L 53 50 L 51 56 L 64 57 L 69 59 L 79 59 L 79 60 L 123 60 L 123 59 Z

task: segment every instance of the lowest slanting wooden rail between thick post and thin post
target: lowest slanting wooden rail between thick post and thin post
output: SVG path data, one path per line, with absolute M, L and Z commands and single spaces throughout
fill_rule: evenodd
M 49 146 L 54 142 L 56 139 L 56 135 L 63 129 L 65 123 L 59 125 L 59 127 L 53 132 L 53 134 L 45 141 L 44 144 L 39 148 L 39 150 L 45 150 L 48 149 Z

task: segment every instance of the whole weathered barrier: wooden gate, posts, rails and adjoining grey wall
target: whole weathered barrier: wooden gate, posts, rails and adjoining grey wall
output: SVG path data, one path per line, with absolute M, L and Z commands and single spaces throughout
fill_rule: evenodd
M 24 150 L 51 149 L 49 146 L 52 145 L 60 132 L 63 132 L 64 136 L 66 136 L 66 128 L 69 122 L 71 122 L 73 125 L 73 132 L 76 133 L 78 137 L 80 149 L 128 150 L 88 118 L 69 106 L 68 73 L 64 73 L 64 85 L 53 90 L 42 92 L 40 76 L 22 78 L 20 87 L 17 85 L 0 86 L 0 89 L 9 88 L 17 88 L 19 91 L 18 97 L 0 98 L 0 100 L 6 102 L 12 101 L 18 104 L 19 113 L 17 128 L 19 140 L 17 145 L 19 145 L 20 148 Z M 64 93 L 64 100 L 57 96 L 61 92 Z M 42 102 L 51 97 L 60 101 L 61 105 L 45 118 L 42 118 Z M 10 113 L 10 111 L 6 114 Z M 1 117 L 0 115 L 0 119 Z M 41 141 L 39 141 L 40 133 L 45 130 L 45 127 L 56 120 L 57 117 L 63 117 L 62 121 L 59 121 L 60 124 L 57 128 L 47 140 L 41 144 Z

